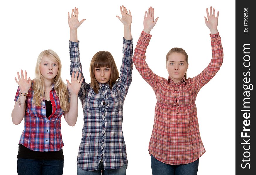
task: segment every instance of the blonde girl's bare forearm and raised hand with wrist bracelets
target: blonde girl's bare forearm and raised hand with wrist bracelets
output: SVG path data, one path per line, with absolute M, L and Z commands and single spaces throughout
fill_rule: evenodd
M 18 80 L 15 77 L 16 83 L 19 85 L 19 92 L 17 92 L 16 96 L 18 96 L 17 101 L 15 102 L 14 108 L 11 113 L 12 122 L 15 125 L 18 125 L 21 123 L 21 121 L 24 118 L 25 115 L 25 109 L 26 109 L 26 97 L 28 90 L 31 86 L 31 80 L 30 77 L 27 77 L 27 72 L 25 71 L 25 76 L 23 75 L 23 71 L 21 70 L 21 77 L 19 72 L 18 74 Z

